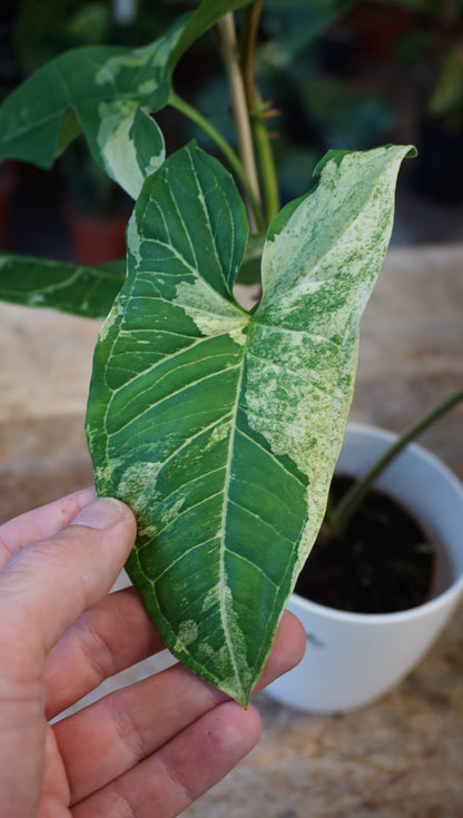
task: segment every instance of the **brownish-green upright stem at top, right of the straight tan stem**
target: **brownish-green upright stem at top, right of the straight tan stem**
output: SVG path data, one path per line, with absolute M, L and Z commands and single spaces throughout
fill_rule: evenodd
M 267 224 L 279 211 L 279 190 L 270 136 L 265 126 L 266 106 L 256 87 L 256 46 L 264 0 L 255 0 L 244 12 L 240 61 L 254 146 L 259 164 Z

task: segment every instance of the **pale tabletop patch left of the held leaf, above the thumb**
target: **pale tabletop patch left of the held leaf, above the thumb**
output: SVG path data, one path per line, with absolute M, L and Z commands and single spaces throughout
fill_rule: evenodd
M 91 483 L 83 417 L 98 326 L 0 304 L 0 521 Z

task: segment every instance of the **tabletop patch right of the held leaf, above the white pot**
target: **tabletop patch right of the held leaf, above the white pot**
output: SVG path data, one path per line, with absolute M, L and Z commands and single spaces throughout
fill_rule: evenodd
M 394 249 L 361 328 L 351 420 L 401 431 L 463 387 L 463 245 Z M 463 404 L 418 441 L 463 479 Z

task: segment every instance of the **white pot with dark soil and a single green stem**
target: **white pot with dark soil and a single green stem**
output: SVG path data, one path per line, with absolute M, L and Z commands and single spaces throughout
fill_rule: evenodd
M 333 501 L 289 600 L 307 651 L 269 687 L 278 701 L 311 712 L 368 704 L 445 627 L 463 595 L 463 486 L 411 441 L 462 400 L 453 393 L 402 435 L 347 426 L 333 482 L 353 483 Z

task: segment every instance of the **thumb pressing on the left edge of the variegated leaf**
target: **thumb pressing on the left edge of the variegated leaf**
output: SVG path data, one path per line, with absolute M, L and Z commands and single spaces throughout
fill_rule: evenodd
M 8 622 L 0 629 L 0 786 L 11 815 L 36 814 L 33 792 L 43 775 L 45 656 L 81 611 L 107 593 L 135 538 L 134 516 L 121 503 L 96 501 L 73 522 L 13 554 L 0 573 L 0 621 Z M 12 775 L 18 758 L 19 789 Z

